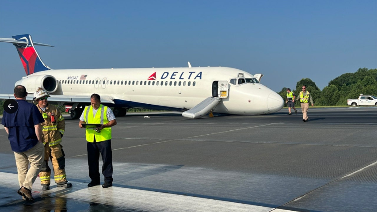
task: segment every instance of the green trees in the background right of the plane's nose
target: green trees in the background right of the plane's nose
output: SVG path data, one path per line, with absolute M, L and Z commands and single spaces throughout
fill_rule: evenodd
M 331 80 L 322 91 L 311 79 L 303 78 L 297 82 L 296 89 L 292 89 L 296 97 L 303 85 L 307 86 L 316 106 L 347 105 L 347 99 L 356 99 L 360 94 L 377 96 L 377 69 L 359 68 L 355 73 L 342 74 Z M 287 88 L 283 88 L 278 94 L 285 100 Z M 300 103 L 296 101 L 295 105 L 299 106 Z

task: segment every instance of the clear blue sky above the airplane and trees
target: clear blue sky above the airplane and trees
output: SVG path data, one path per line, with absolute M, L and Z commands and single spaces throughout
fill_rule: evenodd
M 17 6 L 16 6 L 17 5 Z M 377 68 L 375 0 L 0 2 L 0 37 L 31 34 L 52 69 L 227 66 L 276 92 Z M 0 92 L 25 76 L 0 43 Z

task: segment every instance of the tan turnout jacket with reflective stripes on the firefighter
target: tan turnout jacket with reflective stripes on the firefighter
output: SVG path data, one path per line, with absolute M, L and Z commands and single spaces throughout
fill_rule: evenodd
M 43 145 L 46 143 L 49 143 L 49 146 L 59 144 L 61 142 L 61 137 L 64 134 L 64 130 L 66 129 L 63 115 L 61 115 L 59 109 L 52 104 L 47 104 L 46 110 L 44 111 L 42 111 L 38 104 L 37 108 L 44 118 L 44 122 L 41 123 L 43 127 Z M 53 119 L 55 122 L 52 122 Z

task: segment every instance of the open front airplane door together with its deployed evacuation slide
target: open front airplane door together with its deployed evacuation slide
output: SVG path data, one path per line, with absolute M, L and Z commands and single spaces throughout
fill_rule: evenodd
M 215 108 L 222 98 L 228 98 L 229 84 L 227 81 L 213 81 L 212 83 L 212 96 L 206 98 L 201 103 L 193 108 L 182 113 L 186 118 L 200 118 Z

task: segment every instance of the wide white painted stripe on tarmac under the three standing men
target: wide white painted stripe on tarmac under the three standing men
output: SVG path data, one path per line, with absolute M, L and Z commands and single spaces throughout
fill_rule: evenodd
M 87 187 L 86 183 L 75 181 L 70 181 L 70 183 L 73 184 L 73 187 L 69 189 L 57 188 L 55 185 L 51 185 L 50 190 L 43 191 L 39 182 L 40 179 L 37 178 L 33 185 L 32 195 L 34 198 L 38 197 L 38 195 L 48 194 L 85 202 L 89 201 L 125 209 L 149 212 L 269 212 L 274 209 L 271 207 L 116 186 L 109 188 L 102 188 L 101 186 Z M 14 188 L 16 192 L 19 187 L 17 174 L 0 172 L 0 184 L 2 187 Z

